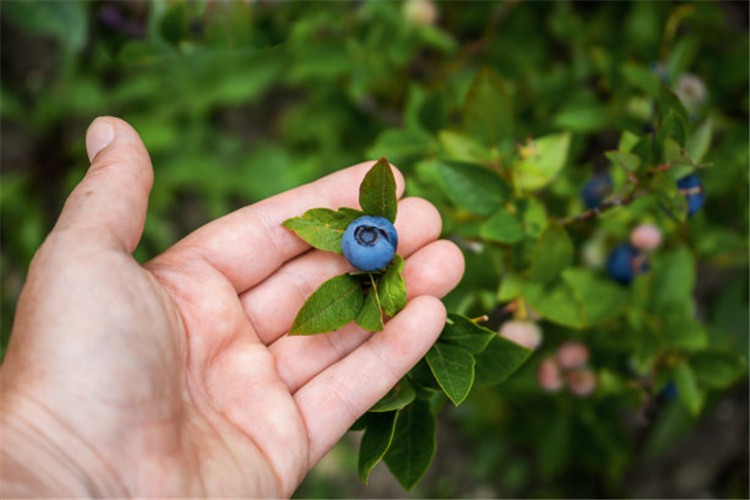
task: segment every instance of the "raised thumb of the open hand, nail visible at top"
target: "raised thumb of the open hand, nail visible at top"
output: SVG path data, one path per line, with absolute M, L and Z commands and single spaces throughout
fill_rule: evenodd
M 74 242 L 132 253 L 143 232 L 153 169 L 138 133 L 123 120 L 95 119 L 86 132 L 91 166 L 68 197 L 53 231 Z

